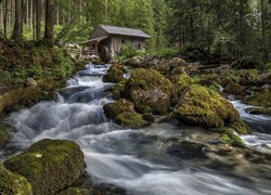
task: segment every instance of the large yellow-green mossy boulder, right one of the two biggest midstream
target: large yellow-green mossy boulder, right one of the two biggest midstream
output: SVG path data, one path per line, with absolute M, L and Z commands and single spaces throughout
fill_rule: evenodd
M 207 128 L 223 127 L 240 118 L 231 103 L 218 92 L 199 84 L 190 86 L 173 113 L 180 121 Z

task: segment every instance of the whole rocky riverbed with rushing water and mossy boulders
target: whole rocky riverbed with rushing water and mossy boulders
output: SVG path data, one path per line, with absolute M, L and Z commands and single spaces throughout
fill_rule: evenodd
M 227 90 L 231 82 L 224 75 L 238 70 L 206 69 L 181 58 L 142 62 L 87 65 L 55 101 L 12 113 L 5 123 L 13 138 L 1 150 L 3 176 L 18 177 L 25 182 L 22 192 L 34 194 L 269 194 L 271 156 L 249 136 L 257 134 L 255 126 L 264 133 L 270 126 L 248 122 L 243 105 L 227 96 L 237 94 Z M 243 82 L 253 91 L 237 96 L 244 102 L 261 88 L 269 91 L 268 79 Z M 23 153 L 14 156 L 17 152 Z M 21 187 L 13 186 L 0 188 Z

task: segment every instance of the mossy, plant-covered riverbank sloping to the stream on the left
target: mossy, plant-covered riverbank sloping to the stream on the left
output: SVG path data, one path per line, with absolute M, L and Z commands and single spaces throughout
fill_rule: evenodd
M 83 68 L 86 62 L 74 62 L 65 48 L 47 48 L 35 42 L 15 43 L 0 38 L 0 125 L 11 112 L 30 107 L 55 98 L 66 79 Z M 9 127 L 1 125 L 1 146 L 11 138 Z

